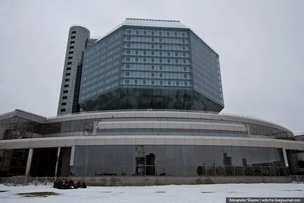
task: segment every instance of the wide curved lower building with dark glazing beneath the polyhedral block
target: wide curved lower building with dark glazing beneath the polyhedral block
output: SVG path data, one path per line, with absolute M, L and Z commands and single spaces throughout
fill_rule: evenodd
M 43 118 L 15 110 L 0 122 L 1 176 L 30 167 L 29 176 L 127 186 L 286 183 L 304 173 L 303 141 L 255 118 L 151 109 Z

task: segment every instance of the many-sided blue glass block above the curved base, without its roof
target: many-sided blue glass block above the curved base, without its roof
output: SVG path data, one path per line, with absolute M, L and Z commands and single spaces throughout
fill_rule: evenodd
M 219 56 L 194 35 L 123 26 L 97 41 L 84 53 L 81 108 L 221 111 Z

